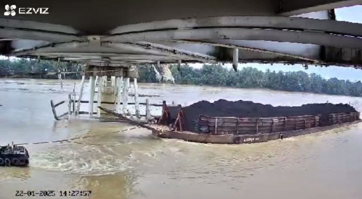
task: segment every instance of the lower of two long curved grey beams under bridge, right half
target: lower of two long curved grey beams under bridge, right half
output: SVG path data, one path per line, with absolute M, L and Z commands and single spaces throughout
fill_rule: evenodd
M 200 39 L 235 39 L 266 40 L 302 44 L 317 44 L 340 48 L 362 49 L 362 39 L 350 36 L 313 33 L 306 31 L 286 31 L 270 29 L 241 28 L 205 28 L 190 30 L 165 30 L 145 33 L 131 33 L 104 38 L 110 42 L 139 42 L 159 40 L 200 40 Z

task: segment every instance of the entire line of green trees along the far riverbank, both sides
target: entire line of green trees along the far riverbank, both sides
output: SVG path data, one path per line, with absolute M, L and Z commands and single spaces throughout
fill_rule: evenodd
M 66 72 L 79 72 L 79 64 L 60 63 L 59 68 Z M 0 76 L 8 74 L 24 75 L 30 78 L 30 73 L 57 72 L 56 64 L 52 61 L 19 59 L 9 62 L 0 60 Z M 330 95 L 361 96 L 361 81 L 350 82 L 337 78 L 324 79 L 317 74 L 299 72 L 262 72 L 255 68 L 243 68 L 239 72 L 223 68 L 220 64 L 205 64 L 201 69 L 183 65 L 180 71 L 172 65 L 171 72 L 177 84 L 225 86 L 237 88 L 269 88 L 282 91 L 313 92 Z M 16 76 L 15 76 L 16 77 Z M 44 76 L 42 76 L 44 78 Z M 37 77 L 39 78 L 39 77 Z M 58 78 L 52 75 L 46 78 Z M 67 74 L 67 79 L 79 79 L 81 74 Z M 139 66 L 139 81 L 155 83 L 156 75 L 150 66 Z

